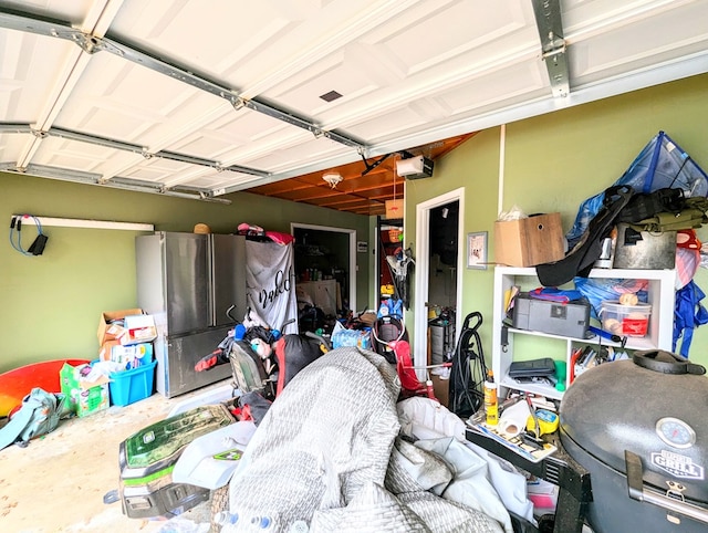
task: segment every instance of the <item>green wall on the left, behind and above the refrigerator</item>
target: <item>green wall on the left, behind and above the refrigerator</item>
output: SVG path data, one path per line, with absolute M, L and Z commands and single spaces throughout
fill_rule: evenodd
M 368 241 L 369 217 L 239 192 L 231 205 L 186 200 L 0 173 L 0 219 L 14 213 L 155 224 L 159 231 L 192 231 L 198 222 L 215 233 L 240 222 L 290 233 L 290 222 L 356 230 Z M 45 228 L 44 254 L 25 257 L 9 239 L 0 244 L 0 372 L 63 357 L 97 356 L 102 311 L 136 306 L 134 231 Z M 6 233 L 7 234 L 7 233 Z M 27 249 L 35 236 L 22 230 Z M 369 244 L 371 248 L 371 244 Z M 356 300 L 369 300 L 369 263 L 357 254 Z

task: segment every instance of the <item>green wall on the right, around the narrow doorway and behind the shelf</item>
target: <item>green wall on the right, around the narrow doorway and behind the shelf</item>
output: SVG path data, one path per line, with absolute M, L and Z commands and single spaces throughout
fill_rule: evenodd
M 580 203 L 620 178 L 659 130 L 708 171 L 707 124 L 708 74 L 508 124 L 501 210 L 516 205 L 527 213 L 560 211 L 568 231 Z M 417 203 L 465 187 L 464 231 L 489 231 L 489 258 L 493 258 L 500 134 L 501 128 L 492 128 L 476 135 L 436 161 L 431 178 L 407 184 L 407 236 L 415 238 Z M 701 241 L 708 241 L 707 227 L 698 233 Z M 699 269 L 695 281 L 707 291 L 708 271 Z M 493 269 L 466 270 L 459 306 L 462 316 L 472 311 L 482 313 L 482 346 L 488 359 L 492 284 Z M 410 323 L 413 320 L 406 321 Z M 696 331 L 690 358 L 708 365 L 708 325 Z

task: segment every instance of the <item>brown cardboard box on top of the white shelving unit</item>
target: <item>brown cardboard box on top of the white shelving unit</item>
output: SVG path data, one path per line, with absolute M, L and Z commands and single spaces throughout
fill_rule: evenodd
M 565 257 L 561 213 L 494 222 L 494 262 L 535 266 Z

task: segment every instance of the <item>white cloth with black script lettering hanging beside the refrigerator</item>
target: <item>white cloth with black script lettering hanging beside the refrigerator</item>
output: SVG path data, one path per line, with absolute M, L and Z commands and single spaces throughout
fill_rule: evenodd
M 272 328 L 298 333 L 294 253 L 292 243 L 246 241 L 248 305 Z

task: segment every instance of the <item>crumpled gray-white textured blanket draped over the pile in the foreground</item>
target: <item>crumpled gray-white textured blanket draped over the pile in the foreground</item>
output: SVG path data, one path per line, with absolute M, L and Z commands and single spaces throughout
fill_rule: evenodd
M 436 495 L 451 473 L 435 453 L 398 438 L 399 387 L 384 357 L 355 347 L 300 372 L 230 481 L 235 523 L 222 533 L 502 533 L 486 514 Z

